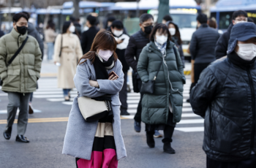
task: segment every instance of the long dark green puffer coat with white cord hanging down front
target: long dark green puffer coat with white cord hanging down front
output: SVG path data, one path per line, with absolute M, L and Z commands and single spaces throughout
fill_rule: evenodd
M 174 48 L 177 56 L 174 53 Z M 173 42 L 168 42 L 166 48 L 165 63 L 168 69 L 162 60 L 162 53 L 154 42 L 146 45 L 140 53 L 137 69 L 143 82 L 153 80 L 159 65 L 162 64 L 154 83 L 154 93 L 144 94 L 142 99 L 141 120 L 144 123 L 167 124 L 168 115 L 170 114 L 169 100 L 173 107 L 173 123 L 181 121 L 183 95 L 178 91 L 183 92 L 183 84 L 186 83 L 186 78 L 178 49 Z M 175 91 L 170 88 L 168 73 Z M 177 89 L 178 91 L 176 91 Z

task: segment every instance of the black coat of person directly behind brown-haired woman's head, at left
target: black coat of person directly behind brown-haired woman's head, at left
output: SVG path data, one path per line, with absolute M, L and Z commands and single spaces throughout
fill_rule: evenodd
M 86 54 L 89 52 L 89 50 L 91 50 L 92 42 L 94 42 L 94 38 L 98 32 L 99 29 L 96 26 L 92 26 L 87 31 L 83 32 L 81 39 L 83 54 Z

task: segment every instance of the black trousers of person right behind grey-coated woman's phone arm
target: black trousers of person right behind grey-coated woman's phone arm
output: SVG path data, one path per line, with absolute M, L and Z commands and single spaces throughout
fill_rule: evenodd
M 121 102 L 121 110 L 127 110 L 127 72 L 124 72 L 124 85 L 121 91 L 119 92 L 120 102 Z

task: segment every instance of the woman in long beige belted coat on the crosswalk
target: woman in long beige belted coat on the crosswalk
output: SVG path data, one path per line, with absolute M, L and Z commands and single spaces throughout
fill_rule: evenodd
M 78 59 L 83 56 L 80 40 L 72 34 L 75 26 L 70 21 L 64 22 L 62 34 L 56 37 L 54 46 L 54 64 L 59 66 L 58 87 L 63 89 L 65 101 L 71 98 L 70 91 L 75 88 L 73 77 L 75 76 Z

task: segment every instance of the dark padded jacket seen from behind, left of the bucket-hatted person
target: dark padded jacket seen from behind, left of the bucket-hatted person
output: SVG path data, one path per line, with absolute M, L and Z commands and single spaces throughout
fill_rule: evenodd
M 192 35 L 190 42 L 190 53 L 195 64 L 206 64 L 215 61 L 215 46 L 219 39 L 219 33 L 210 28 L 207 24 L 202 24 Z

